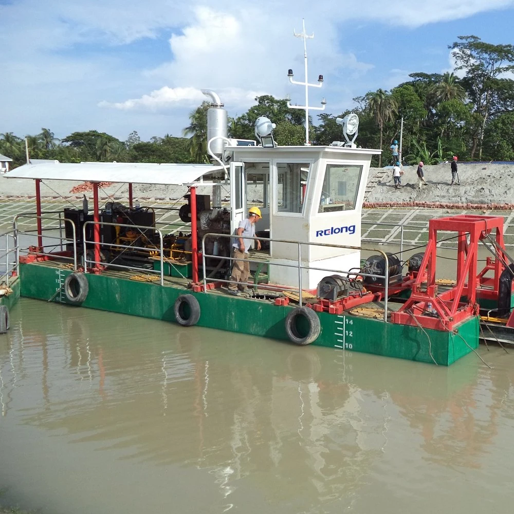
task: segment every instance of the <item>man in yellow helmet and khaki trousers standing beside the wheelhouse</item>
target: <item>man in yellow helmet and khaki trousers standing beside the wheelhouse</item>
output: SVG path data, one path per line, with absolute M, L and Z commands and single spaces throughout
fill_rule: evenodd
M 248 282 L 250 276 L 250 263 L 248 262 L 248 250 L 253 244 L 251 237 L 255 237 L 255 223 L 261 219 L 261 209 L 259 207 L 251 207 L 248 210 L 248 217 L 239 223 L 232 245 L 232 276 L 228 291 L 231 295 L 238 296 L 240 291 L 245 289 L 245 283 Z M 261 242 L 257 241 L 257 249 L 261 249 Z

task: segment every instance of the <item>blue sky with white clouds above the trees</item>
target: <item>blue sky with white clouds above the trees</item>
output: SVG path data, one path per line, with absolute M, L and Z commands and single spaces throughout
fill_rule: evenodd
M 200 89 L 229 116 L 262 94 L 304 105 L 287 78 L 304 81 L 302 19 L 308 80 L 324 77 L 309 104 L 338 115 L 410 73 L 451 71 L 459 35 L 512 44 L 514 0 L 0 0 L 0 133 L 181 136 Z

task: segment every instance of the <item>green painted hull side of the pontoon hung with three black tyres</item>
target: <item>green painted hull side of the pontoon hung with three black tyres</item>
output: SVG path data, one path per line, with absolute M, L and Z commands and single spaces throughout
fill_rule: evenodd
M 48 300 L 56 295 L 70 272 L 44 264 L 23 264 L 21 295 Z M 288 340 L 284 320 L 290 306 L 217 293 L 193 293 L 178 286 L 161 287 L 113 276 L 87 274 L 87 280 L 89 293 L 82 307 L 175 322 L 173 304 L 179 295 L 187 292 L 200 305 L 199 326 Z M 62 292 L 54 301 L 69 303 Z M 479 344 L 478 317 L 462 323 L 458 335 L 357 316 L 319 313 L 318 317 L 321 333 L 313 344 L 343 351 L 449 365 Z

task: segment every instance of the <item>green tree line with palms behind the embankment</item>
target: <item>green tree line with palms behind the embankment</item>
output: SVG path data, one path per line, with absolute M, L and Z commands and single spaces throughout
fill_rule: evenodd
M 411 80 L 391 90 L 378 89 L 354 98 L 355 106 L 337 115 L 321 113 L 318 122 L 309 118 L 311 143 L 330 144 L 343 139 L 337 117 L 350 112 L 359 116 L 357 143 L 381 148 L 389 156 L 389 146 L 399 139 L 403 118 L 402 158 L 405 163 L 423 160 L 433 164 L 457 155 L 460 160 L 514 160 L 514 46 L 493 45 L 474 35 L 458 36 L 449 48 L 455 72 L 434 74 L 415 72 Z M 267 116 L 277 128 L 280 145 L 305 143 L 305 113 L 289 109 L 287 100 L 269 95 L 255 99 L 241 116 L 229 118 L 229 137 L 254 139 L 254 123 Z M 183 137 L 154 136 L 141 141 L 132 132 L 125 141 L 97 131 L 74 132 L 59 140 L 47 128 L 36 136 L 26 136 L 32 158 L 61 162 L 208 162 L 207 110 L 204 102 L 189 116 Z M 25 162 L 25 141 L 7 132 L 0 134 L 0 153 L 13 159 L 14 166 Z M 375 166 L 382 157 L 373 157 Z M 389 157 L 385 158 L 389 163 Z

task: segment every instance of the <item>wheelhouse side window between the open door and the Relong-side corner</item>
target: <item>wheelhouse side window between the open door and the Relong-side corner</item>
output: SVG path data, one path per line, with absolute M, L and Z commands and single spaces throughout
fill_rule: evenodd
M 277 163 L 277 212 L 302 212 L 308 162 Z

